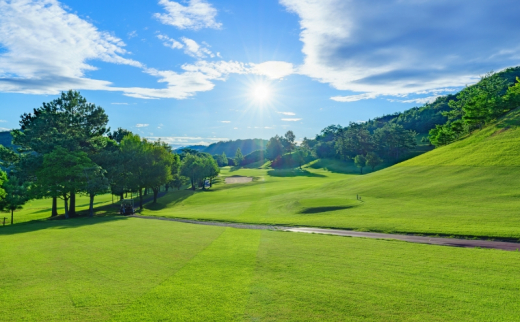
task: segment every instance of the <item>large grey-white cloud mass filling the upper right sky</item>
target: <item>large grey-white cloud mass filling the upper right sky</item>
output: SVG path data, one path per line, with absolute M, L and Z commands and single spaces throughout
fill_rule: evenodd
M 300 18 L 298 73 L 365 93 L 342 102 L 464 86 L 520 57 L 518 28 L 504 23 L 520 14 L 513 0 L 280 2 Z

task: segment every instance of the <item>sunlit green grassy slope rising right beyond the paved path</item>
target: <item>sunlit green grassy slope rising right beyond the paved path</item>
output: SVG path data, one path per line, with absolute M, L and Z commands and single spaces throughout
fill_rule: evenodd
M 175 193 L 143 214 L 518 239 L 519 121 L 513 111 L 464 140 L 363 176 L 227 168 L 224 176 L 259 180 Z

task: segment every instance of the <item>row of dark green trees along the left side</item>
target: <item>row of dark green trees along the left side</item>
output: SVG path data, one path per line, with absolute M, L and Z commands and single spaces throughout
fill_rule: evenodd
M 185 154 L 181 160 L 166 143 L 121 128 L 110 132 L 107 123 L 105 111 L 75 91 L 22 115 L 20 129 L 12 132 L 14 147 L 0 146 L 0 208 L 11 211 L 11 222 L 29 199 L 51 198 L 51 216 L 58 215 L 62 199 L 69 217 L 76 213 L 77 195 L 87 195 L 93 216 L 99 194 L 122 199 L 135 192 L 142 208 L 145 190 L 153 191 L 155 203 L 162 186 L 180 189 L 191 180 L 195 189 L 218 175 L 210 155 Z

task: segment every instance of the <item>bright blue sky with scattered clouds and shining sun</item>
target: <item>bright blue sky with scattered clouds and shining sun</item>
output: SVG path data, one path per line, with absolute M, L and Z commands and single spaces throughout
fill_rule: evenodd
M 520 65 L 518 0 L 0 0 L 0 130 L 69 89 L 174 147 L 312 138 Z

